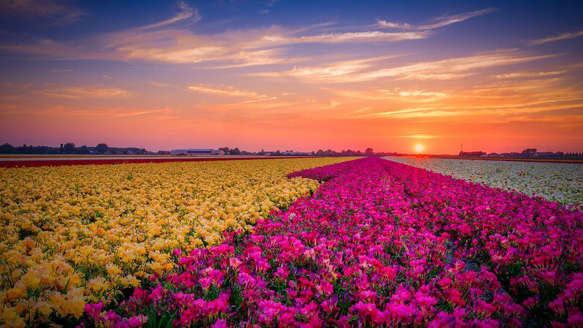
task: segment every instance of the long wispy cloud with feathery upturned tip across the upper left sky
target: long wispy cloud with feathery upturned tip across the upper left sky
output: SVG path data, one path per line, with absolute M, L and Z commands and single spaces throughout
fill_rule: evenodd
M 285 29 L 227 30 L 197 34 L 178 23 L 200 19 L 196 9 L 179 3 L 181 12 L 154 24 L 72 41 L 32 39 L 4 44 L 0 51 L 29 53 L 36 58 L 209 63 L 214 68 L 237 68 L 298 63 L 305 58 L 285 56 L 285 47 L 302 43 L 389 43 L 425 39 L 430 31 L 348 31 L 321 33 L 330 23 Z M 318 33 L 320 32 L 320 33 Z

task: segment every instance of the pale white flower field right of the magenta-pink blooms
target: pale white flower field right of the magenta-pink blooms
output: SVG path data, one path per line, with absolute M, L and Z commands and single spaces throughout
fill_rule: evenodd
M 506 160 L 454 160 L 443 158 L 389 158 L 494 188 L 539 195 L 565 205 L 583 204 L 583 165 Z

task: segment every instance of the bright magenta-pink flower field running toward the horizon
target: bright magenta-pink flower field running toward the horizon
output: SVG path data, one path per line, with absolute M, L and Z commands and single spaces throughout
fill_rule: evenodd
M 98 327 L 580 327 L 583 213 L 380 158 L 301 170 L 323 182 L 253 230 L 174 250 Z

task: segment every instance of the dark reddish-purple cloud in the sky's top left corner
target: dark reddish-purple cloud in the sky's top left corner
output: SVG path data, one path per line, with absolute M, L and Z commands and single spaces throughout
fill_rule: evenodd
M 24 19 L 52 19 L 56 24 L 72 24 L 85 15 L 73 6 L 53 0 L 3 0 L 0 16 L 16 16 Z

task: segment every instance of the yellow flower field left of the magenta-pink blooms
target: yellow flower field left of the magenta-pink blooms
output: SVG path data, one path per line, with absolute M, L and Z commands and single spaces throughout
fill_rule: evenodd
M 344 159 L 0 169 L 0 325 L 70 325 L 313 192 L 294 170 Z

